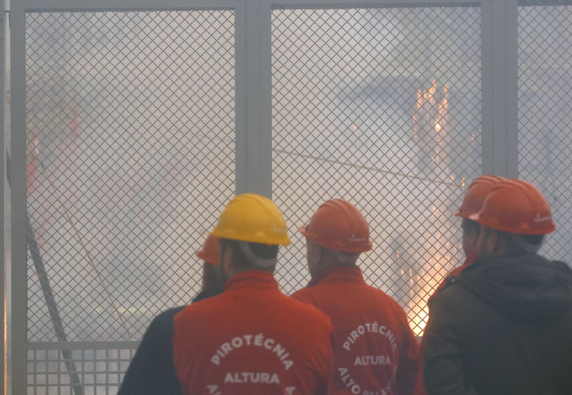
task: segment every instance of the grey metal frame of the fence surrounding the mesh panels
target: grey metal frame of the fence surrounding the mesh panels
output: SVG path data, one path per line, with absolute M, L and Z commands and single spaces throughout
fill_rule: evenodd
M 20 0 L 11 7 L 11 372 L 14 394 L 26 393 L 28 349 L 58 349 L 27 342 L 26 315 L 26 54 L 25 13 L 38 10 L 235 10 L 236 191 L 272 195 L 271 11 L 274 7 L 482 7 L 482 170 L 518 175 L 518 0 Z M 2 59 L 3 64 L 3 59 Z M 3 83 L 3 81 L 2 81 Z M 3 125 L 3 119 L 0 121 Z M 3 147 L 2 147 L 3 148 Z M 3 155 L 4 149 L 2 149 Z M 4 159 L 2 156 L 2 166 Z M 2 180 L 3 182 L 3 180 Z M 2 185 L 3 186 L 3 185 Z M 0 247 L 2 248 L 2 247 Z M 3 252 L 3 251 L 2 251 Z M 0 285 L 2 286 L 2 285 Z M 135 348 L 137 342 L 74 342 L 73 349 Z M 3 374 L 0 376 L 3 377 Z M 0 379 L 3 380 L 3 379 Z

